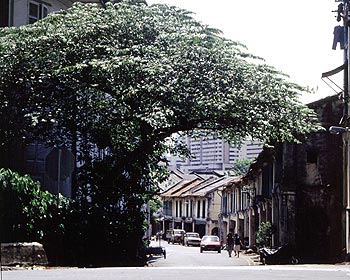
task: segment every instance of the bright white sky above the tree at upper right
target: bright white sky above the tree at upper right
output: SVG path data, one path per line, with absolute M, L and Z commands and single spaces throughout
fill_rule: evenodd
M 239 41 L 267 64 L 289 75 L 290 81 L 315 89 L 300 100 L 313 102 L 339 93 L 322 79 L 324 72 L 341 66 L 344 51 L 332 49 L 336 20 L 335 0 L 147 0 L 193 12 L 203 24 L 218 28 L 223 37 Z M 330 77 L 341 88 L 343 72 Z

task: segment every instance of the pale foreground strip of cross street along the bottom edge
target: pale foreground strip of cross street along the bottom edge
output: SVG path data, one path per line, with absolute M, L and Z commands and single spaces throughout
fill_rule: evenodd
M 348 266 L 141 267 L 4 271 L 2 280 L 349 280 Z

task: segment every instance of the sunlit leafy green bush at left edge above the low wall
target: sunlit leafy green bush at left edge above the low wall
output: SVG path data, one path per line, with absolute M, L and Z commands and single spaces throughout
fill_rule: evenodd
M 60 197 L 61 213 L 69 201 Z M 1 241 L 42 241 L 50 231 L 63 232 L 58 213 L 57 197 L 40 189 L 28 175 L 21 176 L 9 169 L 0 169 Z

